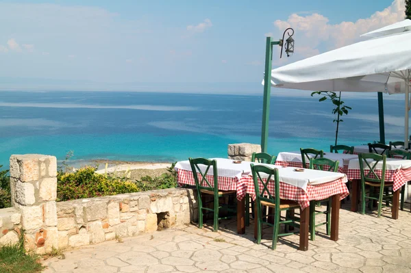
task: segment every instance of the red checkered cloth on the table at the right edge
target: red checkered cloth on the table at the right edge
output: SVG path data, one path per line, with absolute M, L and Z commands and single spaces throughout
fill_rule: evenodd
M 411 169 L 411 168 L 410 168 Z M 381 177 L 382 170 L 375 170 L 375 173 Z M 348 169 L 347 172 L 348 179 L 361 179 L 361 171 L 358 169 Z M 411 178 L 411 170 L 408 169 L 397 169 L 397 170 L 386 170 L 385 181 L 393 181 L 393 191 L 397 191 L 401 188 L 409 179 Z

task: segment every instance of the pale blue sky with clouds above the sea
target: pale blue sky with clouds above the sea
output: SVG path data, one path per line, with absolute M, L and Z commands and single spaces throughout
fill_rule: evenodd
M 403 0 L 0 1 L 0 90 L 260 93 L 266 36 L 296 31 L 275 67 L 402 19 Z

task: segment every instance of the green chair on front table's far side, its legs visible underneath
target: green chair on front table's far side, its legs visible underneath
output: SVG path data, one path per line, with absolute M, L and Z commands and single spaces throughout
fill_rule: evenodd
M 325 170 L 328 172 L 337 172 L 338 171 L 338 160 L 332 161 L 327 158 L 311 158 L 310 159 L 310 169 L 312 170 Z M 316 211 L 315 207 L 318 204 L 327 203 L 327 209 L 325 211 Z M 316 224 L 315 216 L 319 214 L 325 214 L 325 222 Z M 315 229 L 317 226 L 322 226 L 326 224 L 327 235 L 331 234 L 331 198 L 324 200 L 312 200 L 310 201 L 310 239 L 314 241 L 315 239 Z

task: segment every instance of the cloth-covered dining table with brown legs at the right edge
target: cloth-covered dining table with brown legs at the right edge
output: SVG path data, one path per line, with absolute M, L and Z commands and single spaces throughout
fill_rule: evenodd
M 367 159 L 370 166 L 374 166 L 375 161 L 373 159 Z M 365 164 L 364 164 L 365 165 Z M 364 166 L 368 169 L 367 166 Z M 379 176 L 382 175 L 382 161 L 379 161 L 375 165 L 375 173 Z M 352 201 L 351 211 L 358 211 L 358 203 L 360 200 L 360 184 L 361 184 L 361 170 L 359 159 L 353 159 L 349 161 L 347 170 L 347 177 L 352 181 Z M 387 158 L 386 159 L 386 172 L 385 181 L 393 182 L 393 207 L 391 208 L 391 218 L 398 219 L 399 214 L 399 194 L 401 187 L 411 180 L 411 160 Z

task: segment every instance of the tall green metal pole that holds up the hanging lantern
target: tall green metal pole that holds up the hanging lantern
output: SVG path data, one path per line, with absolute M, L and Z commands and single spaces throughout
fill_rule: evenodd
M 266 38 L 266 62 L 264 73 L 264 98 L 262 101 L 262 129 L 261 129 L 261 151 L 266 153 L 269 141 L 270 121 L 270 98 L 271 98 L 271 60 L 273 57 L 273 38 Z

